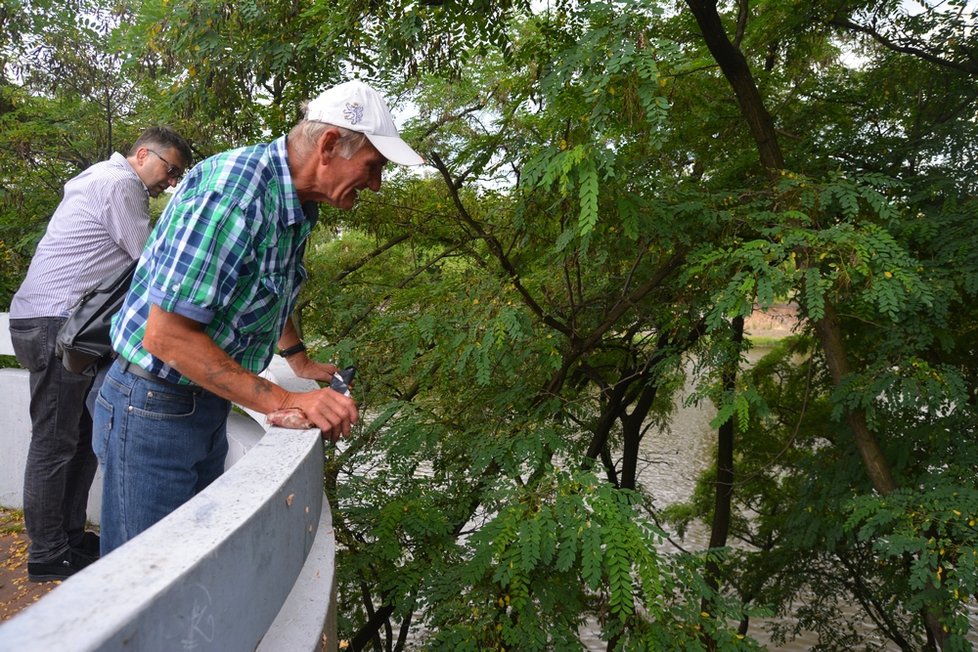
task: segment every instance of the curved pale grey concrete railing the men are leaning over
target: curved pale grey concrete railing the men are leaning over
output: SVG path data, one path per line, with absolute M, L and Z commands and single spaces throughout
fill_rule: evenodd
M 12 354 L 0 314 L 0 354 Z M 308 388 L 276 358 L 266 375 Z M 27 372 L 0 369 L 0 504 L 20 507 Z M 206 490 L 0 625 L 0 650 L 333 650 L 335 539 L 316 430 L 235 412 Z M 247 454 L 245 454 L 247 453 Z M 100 481 L 93 487 L 97 516 Z M 26 571 L 25 571 L 26 572 Z

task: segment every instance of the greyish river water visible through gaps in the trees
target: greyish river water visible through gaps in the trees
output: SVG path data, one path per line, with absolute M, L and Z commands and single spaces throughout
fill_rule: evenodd
M 755 348 L 748 354 L 748 364 L 759 360 L 767 350 Z M 639 482 L 655 500 L 657 507 L 689 500 L 693 494 L 697 476 L 712 462 L 713 447 L 716 441 L 716 431 L 710 427 L 710 421 L 716 416 L 716 409 L 707 402 L 700 405 L 685 406 L 686 394 L 681 396 L 676 413 L 668 429 L 649 432 L 640 448 L 644 467 L 640 466 Z M 681 541 L 683 547 L 690 550 L 702 550 L 709 544 L 709 530 L 702 524 L 691 524 Z M 973 605 L 974 606 L 974 605 Z M 978 609 L 972 609 L 972 628 L 969 640 L 972 647 L 978 649 Z M 854 614 L 855 615 L 855 614 Z M 783 622 L 783 621 L 782 621 Z M 775 646 L 765 631 L 770 624 L 762 619 L 752 619 L 749 634 L 769 650 L 783 652 L 801 652 L 810 650 L 816 643 L 814 634 L 803 635 L 794 641 Z M 870 623 L 863 624 L 863 631 L 872 632 Z M 588 650 L 604 652 L 606 644 L 598 638 L 595 629 L 581 632 L 582 640 Z M 878 643 L 882 644 L 881 638 Z M 898 652 L 899 648 L 890 645 L 881 648 L 890 652 Z

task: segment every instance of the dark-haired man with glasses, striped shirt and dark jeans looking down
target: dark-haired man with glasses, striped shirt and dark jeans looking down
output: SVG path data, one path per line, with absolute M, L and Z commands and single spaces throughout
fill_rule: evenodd
M 92 378 L 74 374 L 54 344 L 82 292 L 138 258 L 149 237 L 149 198 L 175 186 L 190 146 L 168 127 L 145 130 L 128 155 L 112 154 L 68 181 L 10 304 L 10 336 L 30 372 L 31 444 L 24 474 L 28 577 L 73 575 L 99 556 L 85 531 L 97 461 L 85 398 Z

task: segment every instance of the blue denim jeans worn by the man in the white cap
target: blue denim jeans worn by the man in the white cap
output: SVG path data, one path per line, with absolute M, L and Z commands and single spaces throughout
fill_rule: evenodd
M 184 504 L 224 471 L 231 404 L 199 387 L 109 368 L 95 399 L 102 555 Z

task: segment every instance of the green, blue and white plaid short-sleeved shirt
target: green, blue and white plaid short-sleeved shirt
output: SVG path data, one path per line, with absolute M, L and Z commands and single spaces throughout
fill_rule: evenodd
M 212 156 L 177 188 L 150 234 L 112 346 L 173 382 L 190 381 L 143 348 L 150 304 L 205 324 L 249 371 L 268 366 L 306 278 L 311 229 L 289 172 L 285 137 Z

